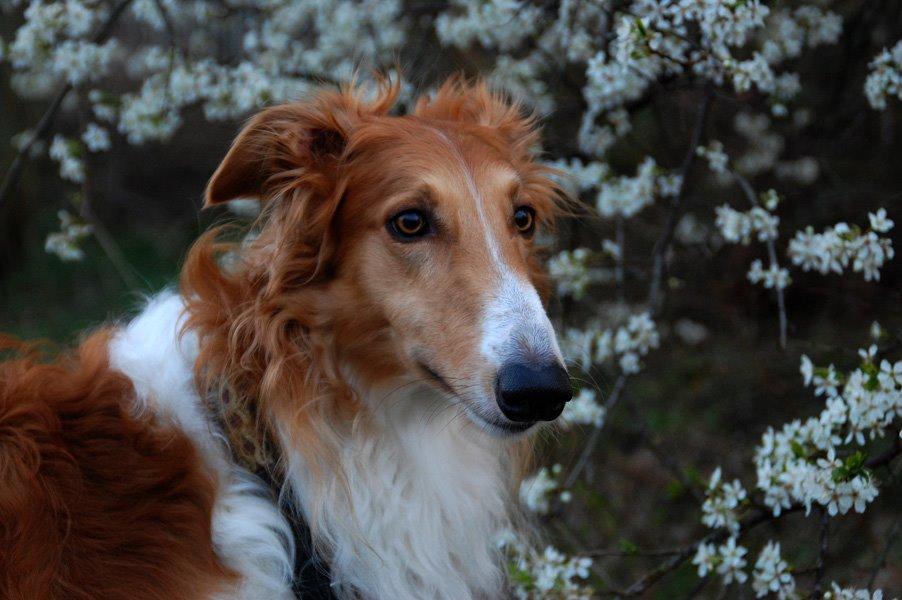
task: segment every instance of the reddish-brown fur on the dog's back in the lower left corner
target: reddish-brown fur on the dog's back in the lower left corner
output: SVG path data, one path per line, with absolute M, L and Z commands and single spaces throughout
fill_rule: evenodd
M 134 390 L 110 370 L 108 340 L 0 364 L 2 598 L 187 600 L 231 578 L 213 552 L 216 490 L 194 445 L 130 413 Z

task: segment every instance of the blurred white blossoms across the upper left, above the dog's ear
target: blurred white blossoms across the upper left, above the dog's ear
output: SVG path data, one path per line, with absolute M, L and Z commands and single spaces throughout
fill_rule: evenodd
M 23 17 L 0 53 L 14 69 L 13 89 L 41 98 L 66 81 L 81 100 L 74 104 L 89 106 L 93 118 L 132 144 L 168 139 L 191 106 L 202 106 L 211 120 L 240 117 L 298 97 L 314 78 L 347 79 L 363 57 L 373 67 L 389 66 L 407 25 L 397 0 L 370 0 L 362 7 L 350 0 L 141 0 L 122 17 L 149 33 L 136 46 L 116 38 L 93 41 L 112 17 L 104 3 L 34 0 Z M 230 37 L 233 20 L 245 31 L 238 40 Z M 220 44 L 234 60 L 214 58 L 224 55 L 215 51 Z M 140 83 L 121 91 L 108 82 L 114 72 Z M 98 127 L 89 124 L 84 131 L 92 151 L 109 147 Z M 63 170 L 65 178 L 72 175 Z

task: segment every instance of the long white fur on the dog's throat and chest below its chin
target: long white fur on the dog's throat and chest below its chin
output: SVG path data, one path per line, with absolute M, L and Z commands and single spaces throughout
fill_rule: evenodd
M 360 390 L 366 417 L 337 430 L 337 464 L 312 469 L 278 432 L 286 484 L 339 596 L 502 595 L 497 539 L 511 527 L 509 444 L 423 384 Z M 331 472 L 330 472 L 331 471 Z

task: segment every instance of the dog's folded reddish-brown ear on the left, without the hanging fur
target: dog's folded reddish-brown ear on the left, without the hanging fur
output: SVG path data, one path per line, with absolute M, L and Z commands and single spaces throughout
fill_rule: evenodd
M 264 110 L 213 173 L 204 206 L 238 198 L 266 201 L 300 186 L 328 193 L 360 110 L 356 96 L 345 91 Z

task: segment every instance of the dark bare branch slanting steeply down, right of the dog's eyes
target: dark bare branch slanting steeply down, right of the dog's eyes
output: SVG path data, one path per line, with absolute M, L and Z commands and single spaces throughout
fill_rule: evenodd
M 695 126 L 692 130 L 692 138 L 689 141 L 689 148 L 686 150 L 686 155 L 683 157 L 683 163 L 680 166 L 680 189 L 670 202 L 670 210 L 667 212 L 667 220 L 664 223 L 664 229 L 661 232 L 661 237 L 659 237 L 658 241 L 655 243 L 654 250 L 652 250 L 652 276 L 651 284 L 648 289 L 648 307 L 652 315 L 658 314 L 661 309 L 661 288 L 664 282 L 664 275 L 667 272 L 667 253 L 670 251 L 670 246 L 673 243 L 673 232 L 679 221 L 680 212 L 683 208 L 683 201 L 686 198 L 686 192 L 688 190 L 686 180 L 689 177 L 692 166 L 695 164 L 697 156 L 696 151 L 701 144 L 705 125 L 708 122 L 708 115 L 711 112 L 710 109 L 713 96 L 714 94 L 712 93 L 711 88 L 708 87 L 705 90 L 705 95 L 702 98 L 701 104 L 699 104 Z

